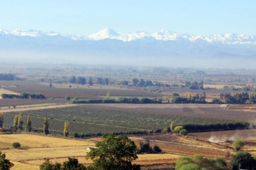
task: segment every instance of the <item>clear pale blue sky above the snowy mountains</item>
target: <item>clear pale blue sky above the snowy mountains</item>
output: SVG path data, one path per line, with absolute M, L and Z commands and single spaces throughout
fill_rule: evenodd
M 256 0 L 0 0 L 0 29 L 256 34 Z

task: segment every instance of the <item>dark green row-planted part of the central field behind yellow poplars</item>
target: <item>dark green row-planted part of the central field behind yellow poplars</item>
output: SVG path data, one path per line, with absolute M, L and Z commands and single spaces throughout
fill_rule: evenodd
M 118 104 L 119 105 L 119 104 Z M 113 106 L 113 105 L 112 105 Z M 28 114 L 32 116 L 32 127 L 42 129 L 44 116 L 49 118 L 49 129 L 61 133 L 64 122 L 70 121 L 70 134 L 73 133 L 105 133 L 127 131 L 149 131 L 168 127 L 170 122 L 186 123 L 215 123 L 230 122 L 199 116 L 201 114 L 183 116 L 182 108 L 143 108 L 143 105 L 134 104 L 137 108 L 108 107 L 108 105 L 78 105 L 67 108 L 52 108 L 24 111 L 24 121 Z M 150 105 L 147 105 L 147 107 Z M 153 105 L 154 106 L 154 105 Z M 141 108 L 140 108 L 141 107 Z M 193 108 L 192 108 L 193 109 Z M 4 113 L 5 124 L 12 125 L 14 115 L 18 112 Z M 191 113 L 192 114 L 192 113 Z

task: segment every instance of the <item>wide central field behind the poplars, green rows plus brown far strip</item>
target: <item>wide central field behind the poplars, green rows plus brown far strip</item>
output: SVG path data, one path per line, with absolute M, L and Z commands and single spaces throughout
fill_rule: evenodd
M 44 116 L 50 118 L 50 129 L 61 133 L 64 121 L 70 122 L 70 134 L 105 133 L 126 131 L 150 131 L 175 125 L 201 123 L 227 123 L 236 120 L 248 121 L 245 115 L 255 113 L 232 111 L 226 105 L 200 104 L 85 104 L 66 108 L 24 111 L 32 116 L 32 126 L 41 129 Z M 6 126 L 12 125 L 18 112 L 4 113 Z M 24 118 L 25 119 L 25 118 Z

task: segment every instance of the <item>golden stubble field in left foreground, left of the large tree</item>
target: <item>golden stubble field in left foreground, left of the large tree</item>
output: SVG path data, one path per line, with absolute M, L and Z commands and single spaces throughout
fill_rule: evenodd
M 78 141 L 32 134 L 0 135 L 0 141 L 9 144 L 20 142 L 24 148 L 19 150 L 1 148 L 6 157 L 15 164 L 12 170 L 38 170 L 39 164 L 46 157 L 50 159 L 67 159 L 69 156 L 84 158 L 87 147 L 94 146 L 94 143 L 89 140 Z M 33 162 L 37 160 L 39 164 Z

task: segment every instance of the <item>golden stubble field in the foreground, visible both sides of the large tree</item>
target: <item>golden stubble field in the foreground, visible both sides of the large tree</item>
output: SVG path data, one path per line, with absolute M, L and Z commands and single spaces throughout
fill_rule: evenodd
M 6 154 L 15 166 L 12 170 L 39 170 L 45 158 L 52 162 L 63 162 L 68 157 L 75 157 L 83 164 L 92 163 L 86 160 L 87 147 L 93 147 L 101 138 L 74 140 L 34 134 L 2 134 L 0 135 L 0 150 Z M 12 143 L 19 142 L 21 149 L 13 149 Z M 141 154 L 135 164 L 157 165 L 174 163 L 179 155 Z

